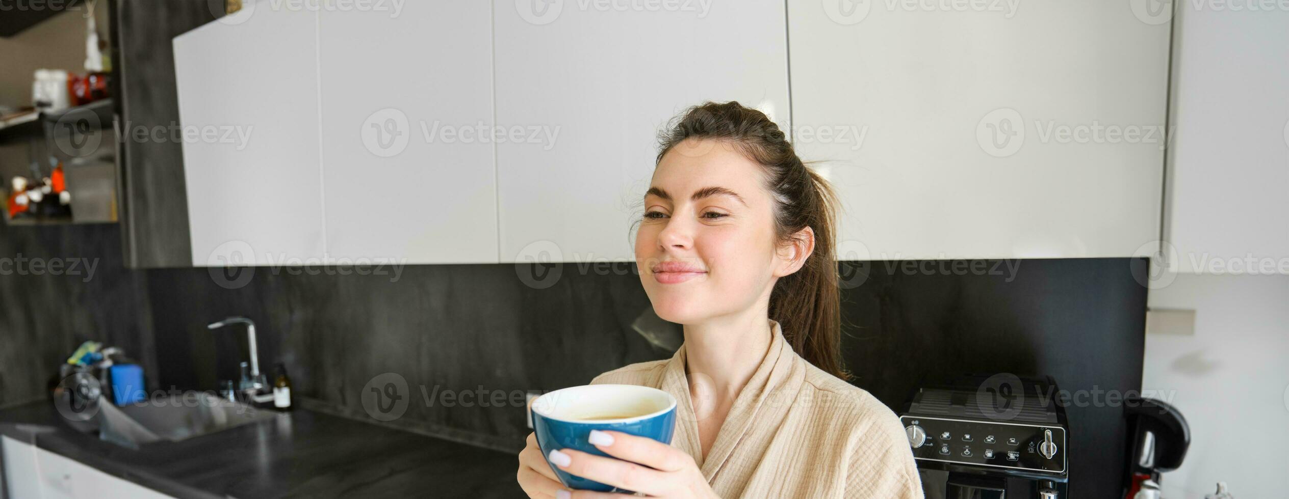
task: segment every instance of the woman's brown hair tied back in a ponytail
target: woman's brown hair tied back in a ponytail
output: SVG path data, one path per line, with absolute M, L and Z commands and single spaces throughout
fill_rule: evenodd
M 764 168 L 766 189 L 775 199 L 779 246 L 791 242 L 794 234 L 807 226 L 815 230 L 815 251 L 806 264 L 775 283 L 770 318 L 782 325 L 785 340 L 798 355 L 849 381 L 842 365 L 840 293 L 834 253 L 837 194 L 833 188 L 802 163 L 779 125 L 761 111 L 737 102 L 708 102 L 677 116 L 659 136 L 656 162 L 690 138 L 732 144 Z

